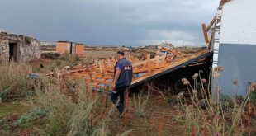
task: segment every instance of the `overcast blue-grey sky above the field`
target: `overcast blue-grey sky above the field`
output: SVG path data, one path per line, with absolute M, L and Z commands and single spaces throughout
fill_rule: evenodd
M 0 0 L 0 30 L 92 45 L 204 45 L 219 0 Z

